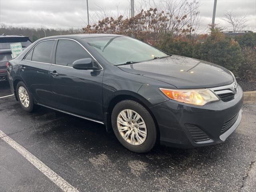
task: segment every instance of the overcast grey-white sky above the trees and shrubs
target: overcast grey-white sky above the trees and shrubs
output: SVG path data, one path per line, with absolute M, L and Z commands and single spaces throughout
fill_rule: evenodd
M 129 2 L 89 0 L 89 13 L 92 16 L 104 8 L 116 16 L 118 5 L 119 14 L 128 14 Z M 135 0 L 136 4 L 140 2 L 142 0 Z M 200 0 L 200 4 L 200 32 L 204 32 L 212 20 L 214 0 Z M 256 0 L 218 0 L 215 23 L 226 26 L 221 18 L 228 10 L 233 10 L 236 15 L 248 14 L 248 30 L 256 31 Z M 87 23 L 86 0 L 0 0 L 0 22 L 12 26 L 81 28 Z

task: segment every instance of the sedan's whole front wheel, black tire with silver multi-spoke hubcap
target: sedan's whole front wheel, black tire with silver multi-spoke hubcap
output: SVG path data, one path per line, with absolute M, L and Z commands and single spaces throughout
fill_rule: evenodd
M 129 150 L 145 153 L 154 147 L 156 125 L 148 110 L 138 102 L 124 100 L 116 104 L 111 122 L 116 137 Z

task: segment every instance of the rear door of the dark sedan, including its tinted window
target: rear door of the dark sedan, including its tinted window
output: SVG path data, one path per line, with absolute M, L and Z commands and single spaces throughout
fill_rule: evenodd
M 55 40 L 36 44 L 19 64 L 20 76 L 40 104 L 52 105 L 49 69 Z

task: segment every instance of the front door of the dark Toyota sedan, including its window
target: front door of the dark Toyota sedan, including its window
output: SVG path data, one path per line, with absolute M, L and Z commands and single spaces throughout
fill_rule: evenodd
M 58 40 L 54 64 L 50 68 L 55 108 L 102 121 L 104 70 L 74 69 L 72 63 L 82 58 L 92 57 L 81 44 L 69 39 Z

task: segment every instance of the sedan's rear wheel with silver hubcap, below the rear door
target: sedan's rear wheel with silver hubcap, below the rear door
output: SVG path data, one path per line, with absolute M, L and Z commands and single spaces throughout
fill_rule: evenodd
M 32 112 L 34 109 L 34 102 L 32 95 L 28 91 L 28 88 L 23 82 L 18 82 L 16 87 L 16 94 L 18 96 L 18 100 L 20 102 L 20 106 L 26 112 Z

